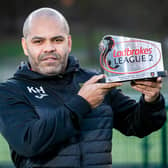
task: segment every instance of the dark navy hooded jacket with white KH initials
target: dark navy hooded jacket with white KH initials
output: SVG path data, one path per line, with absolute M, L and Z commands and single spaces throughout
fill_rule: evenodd
M 77 93 L 94 73 L 73 57 L 63 75 L 21 65 L 0 84 L 0 131 L 18 168 L 111 168 L 112 129 L 144 137 L 166 120 L 164 98 L 139 103 L 113 89 L 95 109 Z

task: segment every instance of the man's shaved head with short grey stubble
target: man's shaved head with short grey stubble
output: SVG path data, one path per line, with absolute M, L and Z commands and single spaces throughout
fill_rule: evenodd
M 64 73 L 71 45 L 68 23 L 58 11 L 40 8 L 27 17 L 22 47 L 33 71 L 48 76 Z

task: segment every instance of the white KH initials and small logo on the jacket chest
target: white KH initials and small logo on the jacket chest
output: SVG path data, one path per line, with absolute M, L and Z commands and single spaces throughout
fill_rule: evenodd
M 33 86 L 27 86 L 27 89 L 29 93 L 34 94 L 34 97 L 37 99 L 42 99 L 43 97 L 48 96 L 48 94 L 46 94 L 42 86 L 40 86 L 39 88 Z

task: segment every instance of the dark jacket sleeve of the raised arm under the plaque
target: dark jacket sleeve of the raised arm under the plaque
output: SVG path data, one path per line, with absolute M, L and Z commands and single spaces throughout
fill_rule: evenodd
M 161 128 L 166 121 L 163 96 L 153 103 L 147 103 L 143 95 L 139 102 L 125 96 L 121 90 L 111 92 L 114 111 L 114 128 L 127 136 L 144 137 Z

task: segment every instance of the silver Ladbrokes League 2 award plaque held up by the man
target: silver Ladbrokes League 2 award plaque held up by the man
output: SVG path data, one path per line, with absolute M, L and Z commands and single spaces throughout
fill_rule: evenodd
M 105 82 L 167 76 L 160 42 L 106 35 L 100 42 L 99 50 Z

